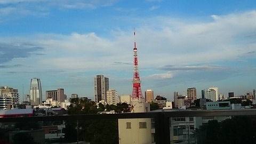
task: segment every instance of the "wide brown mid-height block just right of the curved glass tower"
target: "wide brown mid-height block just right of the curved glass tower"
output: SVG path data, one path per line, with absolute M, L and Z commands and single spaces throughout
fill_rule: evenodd
M 65 100 L 64 89 L 45 91 L 46 99 L 52 99 L 52 101 L 63 102 Z

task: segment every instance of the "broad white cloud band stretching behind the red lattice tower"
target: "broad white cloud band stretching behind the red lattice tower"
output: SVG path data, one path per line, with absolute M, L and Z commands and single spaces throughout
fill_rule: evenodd
M 218 17 L 210 22 L 193 23 L 166 17 L 143 19 L 151 24 L 136 28 L 139 70 L 149 67 L 157 69 L 161 66 L 166 68 L 161 70 L 167 71 L 200 68 L 223 70 L 225 68 L 221 67 L 221 62 L 237 61 L 244 59 L 243 55 L 254 54 L 256 43 L 251 41 L 254 41 L 255 37 L 248 35 L 256 29 L 256 26 L 252 25 L 256 23 L 255 11 Z M 156 21 L 158 25 L 155 25 Z M 57 69 L 67 73 L 105 71 L 111 74 L 113 70 L 132 71 L 133 66 L 127 64 L 133 62 L 133 30 L 111 30 L 111 34 L 111 38 L 101 37 L 96 33 L 41 34 L 22 38 L 22 42 L 28 41 L 44 47 L 43 51 L 39 52 L 43 55 L 30 54 L 19 61 L 13 59 L 9 64 L 26 63 L 26 69 L 44 66 L 38 69 Z M 14 41 L 13 38 L 10 39 L 9 41 Z M 248 43 L 249 41 L 251 43 Z M 215 65 L 215 62 L 219 62 L 220 66 Z M 198 63 L 207 64 L 196 65 Z M 170 65 L 176 67 L 166 67 Z M 146 70 L 142 72 L 147 75 Z M 148 77 L 174 77 L 171 72 L 162 72 L 158 74 L 159 71 L 154 71 L 157 74 L 150 73 Z

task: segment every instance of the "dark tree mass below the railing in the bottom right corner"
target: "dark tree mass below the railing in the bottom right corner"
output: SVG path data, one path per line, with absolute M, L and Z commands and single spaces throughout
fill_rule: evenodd
M 250 116 L 234 116 L 222 122 L 212 120 L 195 130 L 197 143 L 255 143 Z

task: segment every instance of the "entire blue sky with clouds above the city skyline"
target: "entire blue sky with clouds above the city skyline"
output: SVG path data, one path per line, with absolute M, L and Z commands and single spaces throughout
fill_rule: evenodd
M 256 1 L 0 0 L 0 85 L 93 99 L 93 77 L 131 94 L 133 29 L 142 91 L 256 89 Z M 22 88 L 23 87 L 23 88 Z M 22 98 L 21 98 L 22 99 Z M 44 98 L 45 99 L 45 98 Z

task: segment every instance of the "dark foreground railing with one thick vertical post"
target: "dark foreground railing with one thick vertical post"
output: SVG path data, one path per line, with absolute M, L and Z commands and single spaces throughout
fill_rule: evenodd
M 0 118 L 0 123 L 39 122 L 39 121 L 81 121 L 93 119 L 127 119 L 154 118 L 155 143 L 169 144 L 171 142 L 170 118 L 174 117 L 213 117 L 213 116 L 256 116 L 255 109 L 243 110 L 184 110 L 184 111 L 150 111 L 149 113 L 121 113 L 121 114 L 88 114 L 61 116 L 32 116 Z

